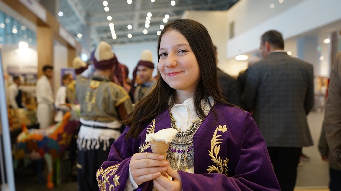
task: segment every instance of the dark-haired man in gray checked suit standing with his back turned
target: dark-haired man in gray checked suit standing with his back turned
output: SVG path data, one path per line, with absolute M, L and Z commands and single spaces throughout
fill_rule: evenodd
M 313 145 L 306 115 L 314 105 L 313 66 L 284 52 L 282 34 L 261 37 L 263 60 L 248 68 L 242 101 L 253 111 L 282 191 L 293 191 L 302 147 Z

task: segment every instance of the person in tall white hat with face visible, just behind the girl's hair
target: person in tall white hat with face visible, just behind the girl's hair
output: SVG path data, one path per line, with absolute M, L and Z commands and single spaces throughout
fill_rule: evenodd
M 152 52 L 148 49 L 143 50 L 140 60 L 133 71 L 131 94 L 134 103 L 139 102 L 155 87 L 156 79 L 152 76 L 154 68 Z M 136 76 L 138 76 L 141 83 L 134 87 Z

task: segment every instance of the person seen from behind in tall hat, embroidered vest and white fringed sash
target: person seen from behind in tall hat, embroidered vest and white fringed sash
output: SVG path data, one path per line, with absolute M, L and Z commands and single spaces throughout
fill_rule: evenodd
M 95 73 L 76 78 L 76 99 L 80 104 L 78 133 L 78 189 L 98 189 L 96 171 L 107 160 L 111 144 L 121 135 L 119 120 L 132 112 L 132 102 L 123 87 L 110 81 L 117 58 L 110 44 L 100 42 L 93 59 Z

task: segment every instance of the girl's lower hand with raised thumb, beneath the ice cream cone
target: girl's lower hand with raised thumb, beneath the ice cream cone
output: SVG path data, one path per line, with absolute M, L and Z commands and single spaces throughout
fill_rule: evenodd
M 167 174 L 173 178 L 170 180 L 167 178 Z M 170 162 L 167 164 L 167 171 L 165 176 L 159 176 L 153 180 L 154 187 L 158 191 L 182 191 L 182 184 L 180 174 L 170 168 Z

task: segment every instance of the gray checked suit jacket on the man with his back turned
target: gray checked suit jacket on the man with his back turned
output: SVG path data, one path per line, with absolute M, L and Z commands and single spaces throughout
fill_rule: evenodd
M 267 146 L 313 145 L 306 115 L 314 105 L 313 66 L 273 52 L 247 70 L 243 104 Z

